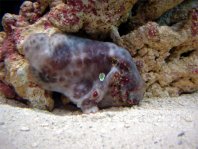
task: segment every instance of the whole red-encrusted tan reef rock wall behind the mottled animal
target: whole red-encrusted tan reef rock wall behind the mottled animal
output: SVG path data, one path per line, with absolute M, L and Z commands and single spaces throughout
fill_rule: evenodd
M 53 109 L 52 92 L 32 77 L 24 58 L 24 41 L 35 33 L 49 37 L 56 33 L 83 34 L 104 41 L 111 35 L 113 42 L 134 58 L 145 81 L 145 97 L 197 91 L 197 7 L 196 0 L 25 1 L 19 15 L 6 13 L 2 19 L 0 96 Z M 62 99 L 64 104 L 68 102 Z M 118 100 L 111 105 L 117 103 L 122 105 Z

